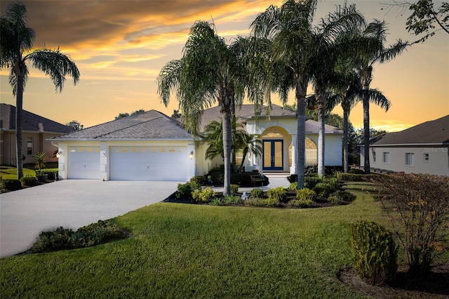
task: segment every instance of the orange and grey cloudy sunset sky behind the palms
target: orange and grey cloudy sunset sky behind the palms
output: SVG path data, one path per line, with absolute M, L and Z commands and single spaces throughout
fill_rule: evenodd
M 60 48 L 69 54 L 81 73 L 71 77 L 62 93 L 51 79 L 29 65 L 23 109 L 66 124 L 76 120 L 84 127 L 111 121 L 119 113 L 156 109 L 170 116 L 177 109 L 161 104 L 156 77 L 166 62 L 182 56 L 189 28 L 196 20 L 214 21 L 217 33 L 231 43 L 236 35 L 248 35 L 257 13 L 283 1 L 273 0 L 173 0 L 173 1 L 23 1 L 29 27 L 36 32 L 35 47 Z M 1 0 L 1 15 L 11 1 Z M 334 11 L 343 1 L 319 1 L 316 20 Z M 409 11 L 389 9 L 391 0 L 348 1 L 368 21 L 389 24 L 388 44 L 396 39 L 415 41 L 409 34 Z M 438 5 L 439 2 L 436 2 Z M 383 8 L 383 9 L 382 9 Z M 9 69 L 1 69 L 1 102 L 15 105 L 8 83 Z M 424 44 L 415 44 L 385 65 L 375 65 L 372 88 L 392 102 L 389 112 L 371 106 L 371 126 L 389 132 L 449 114 L 449 34 L 437 32 Z M 281 105 L 274 96 L 273 102 Z M 289 103 L 295 102 L 293 94 Z M 342 115 L 341 109 L 335 113 Z M 363 111 L 357 105 L 350 116 L 355 128 L 363 126 Z

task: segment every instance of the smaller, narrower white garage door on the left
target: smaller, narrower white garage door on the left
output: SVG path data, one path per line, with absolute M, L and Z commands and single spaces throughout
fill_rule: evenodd
M 69 178 L 100 179 L 100 147 L 69 147 Z

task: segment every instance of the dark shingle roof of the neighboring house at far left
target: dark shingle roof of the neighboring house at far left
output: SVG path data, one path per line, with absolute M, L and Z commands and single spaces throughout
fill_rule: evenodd
M 22 110 L 22 130 L 36 131 L 48 133 L 69 133 L 73 128 L 57 123 L 37 114 Z M 0 104 L 0 129 L 15 130 L 15 106 L 1 103 Z

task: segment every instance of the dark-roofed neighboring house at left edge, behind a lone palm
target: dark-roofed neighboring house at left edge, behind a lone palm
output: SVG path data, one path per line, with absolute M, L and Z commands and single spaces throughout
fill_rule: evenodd
M 58 161 L 53 153 L 58 150 L 48 141 L 61 134 L 73 131 L 69 126 L 40 117 L 23 110 L 22 153 L 24 164 L 34 163 L 34 154 L 45 152 L 47 161 Z M 15 106 L 0 104 L 0 165 L 16 165 Z

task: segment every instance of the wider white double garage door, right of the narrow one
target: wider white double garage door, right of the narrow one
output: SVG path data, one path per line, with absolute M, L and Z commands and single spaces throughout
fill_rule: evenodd
M 111 180 L 187 180 L 187 147 L 110 147 Z

